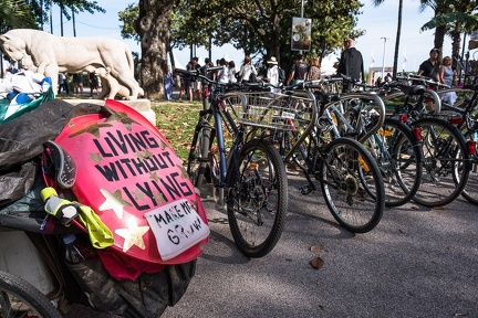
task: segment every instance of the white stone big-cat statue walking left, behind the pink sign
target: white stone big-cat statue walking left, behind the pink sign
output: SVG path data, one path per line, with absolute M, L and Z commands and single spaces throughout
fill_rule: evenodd
M 110 76 L 129 91 L 128 99 L 144 92 L 134 78 L 133 55 L 125 43 L 110 38 L 55 36 L 44 31 L 14 29 L 0 35 L 2 51 L 13 61 L 31 59 L 38 73 L 58 85 L 59 72 L 95 72 L 104 67 Z M 54 89 L 55 91 L 55 89 Z M 111 91 L 108 98 L 117 92 Z

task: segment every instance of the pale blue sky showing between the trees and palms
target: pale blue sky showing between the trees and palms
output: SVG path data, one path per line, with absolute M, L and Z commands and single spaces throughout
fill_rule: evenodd
M 106 13 L 90 14 L 82 12 L 76 18 L 76 36 L 108 36 L 126 42 L 134 52 L 141 52 L 139 45 L 132 40 L 123 40 L 119 33 L 118 11 L 124 10 L 127 4 L 136 3 L 134 0 L 96 0 L 97 3 L 106 10 Z M 306 1 L 306 0 L 305 0 Z M 365 6 L 362 8 L 363 14 L 358 15 L 357 28 L 365 30 L 366 34 L 356 39 L 355 46 L 362 52 L 364 66 L 382 67 L 383 61 L 385 66 L 393 66 L 395 52 L 396 29 L 398 1 L 384 1 L 380 7 L 374 7 L 372 0 L 362 0 Z M 434 30 L 420 32 L 423 24 L 428 22 L 433 17 L 433 10 L 427 8 L 419 13 L 419 0 L 405 0 L 402 20 L 402 36 L 398 56 L 398 70 L 417 71 L 419 64 L 428 59 L 428 53 L 434 45 Z M 300 15 L 300 8 L 298 8 Z M 304 12 L 306 18 L 306 12 Z M 73 36 L 72 21 L 63 20 L 63 30 L 65 36 Z M 50 25 L 45 24 L 44 30 L 50 32 Z M 53 12 L 53 34 L 60 35 L 61 32 L 60 15 L 58 8 Z M 385 38 L 386 40 L 384 40 Z M 385 50 L 384 50 L 385 49 Z M 477 52 L 477 51 L 475 51 Z M 471 60 L 476 54 L 470 52 Z M 451 40 L 445 38 L 444 55 L 450 55 Z M 186 66 L 190 57 L 190 50 L 175 50 L 174 55 L 183 66 Z M 204 60 L 208 52 L 204 47 L 197 47 L 196 55 Z M 340 55 L 340 52 L 336 52 Z M 212 60 L 229 56 L 240 65 L 243 60 L 243 52 L 237 51 L 232 45 L 214 47 Z M 406 59 L 406 62 L 405 62 Z

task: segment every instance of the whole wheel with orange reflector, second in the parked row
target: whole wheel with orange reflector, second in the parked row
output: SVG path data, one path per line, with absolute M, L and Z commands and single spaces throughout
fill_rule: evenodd
M 319 173 L 325 203 L 344 229 L 365 233 L 380 223 L 385 209 L 384 183 L 364 146 L 344 137 L 332 140 L 323 149 Z

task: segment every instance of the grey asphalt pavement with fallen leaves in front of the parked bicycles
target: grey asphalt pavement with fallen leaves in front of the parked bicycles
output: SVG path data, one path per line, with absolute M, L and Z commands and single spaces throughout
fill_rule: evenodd
M 285 229 L 262 258 L 238 252 L 227 214 L 204 200 L 210 241 L 163 317 L 478 317 L 478 206 L 461 197 L 435 209 L 407 203 L 355 235 L 320 191 L 300 194 L 303 184 L 290 176 Z

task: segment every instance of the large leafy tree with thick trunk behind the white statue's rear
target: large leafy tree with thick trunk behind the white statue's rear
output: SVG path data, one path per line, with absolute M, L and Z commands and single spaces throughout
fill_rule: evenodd
M 139 1 L 139 23 L 136 22 L 135 31 L 142 43 L 145 94 L 148 98 L 162 96 L 166 51 L 170 47 L 230 43 L 252 57 L 274 55 L 284 60 L 281 65 L 290 65 L 295 52 L 283 47 L 291 47 L 292 18 L 299 15 L 300 3 L 300 0 L 176 0 L 173 7 L 165 0 Z M 353 30 L 363 6 L 360 1 L 306 1 L 305 4 L 304 11 L 313 12 L 306 17 L 313 19 L 311 55 L 323 56 L 341 46 L 344 38 L 363 34 Z M 156 12 L 157 7 L 162 11 Z M 124 22 L 134 20 L 129 13 L 125 12 Z M 135 39 L 126 23 L 122 34 L 123 31 Z

